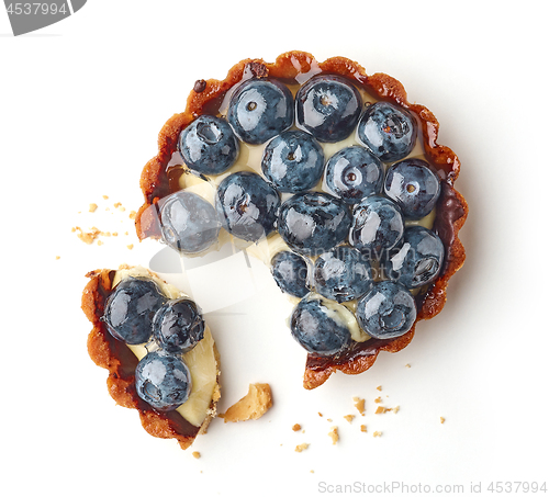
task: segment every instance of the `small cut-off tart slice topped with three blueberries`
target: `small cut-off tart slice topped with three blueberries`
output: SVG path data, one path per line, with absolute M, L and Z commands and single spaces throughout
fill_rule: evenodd
M 87 276 L 88 352 L 109 371 L 109 393 L 138 410 L 148 433 L 187 449 L 206 432 L 220 398 L 219 353 L 200 308 L 141 267 Z

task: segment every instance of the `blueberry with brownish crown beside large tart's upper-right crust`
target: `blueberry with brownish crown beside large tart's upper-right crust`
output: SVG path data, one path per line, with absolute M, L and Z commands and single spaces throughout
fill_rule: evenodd
M 401 160 L 415 146 L 417 127 L 412 114 L 393 103 L 370 105 L 358 123 L 358 139 L 384 162 Z

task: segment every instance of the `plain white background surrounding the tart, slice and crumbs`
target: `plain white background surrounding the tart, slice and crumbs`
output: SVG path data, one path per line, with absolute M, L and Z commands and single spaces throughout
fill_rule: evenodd
M 393 482 L 416 493 L 413 485 L 463 485 L 464 494 L 482 483 L 491 495 L 490 482 L 549 479 L 542 7 L 89 0 L 21 37 L 0 12 L 0 447 L 10 495 L 309 496 Z M 221 410 L 253 382 L 271 384 L 274 406 L 257 421 L 217 419 L 181 451 L 149 437 L 137 413 L 109 396 L 107 373 L 86 350 L 85 274 L 147 266 L 158 252 L 136 240 L 128 213 L 142 203 L 139 174 L 157 134 L 193 82 L 289 49 L 386 72 L 435 113 L 439 143 L 462 163 L 456 185 L 470 205 L 460 234 L 468 259 L 444 312 L 419 324 L 410 347 L 313 392 L 301 386 L 305 353 L 273 285 L 206 316 L 223 359 Z M 88 246 L 75 226 L 120 236 Z M 354 396 L 368 410 L 349 425 L 343 416 L 358 414 Z M 378 396 L 400 411 L 374 415 Z M 292 431 L 296 422 L 304 433 Z M 302 442 L 309 450 L 294 452 Z

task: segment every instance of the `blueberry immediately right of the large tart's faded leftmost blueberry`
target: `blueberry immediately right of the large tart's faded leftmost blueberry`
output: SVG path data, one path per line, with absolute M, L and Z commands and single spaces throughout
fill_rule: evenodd
M 279 206 L 278 192 L 255 172 L 235 172 L 217 188 L 217 214 L 225 229 L 237 238 L 257 241 L 269 235 Z

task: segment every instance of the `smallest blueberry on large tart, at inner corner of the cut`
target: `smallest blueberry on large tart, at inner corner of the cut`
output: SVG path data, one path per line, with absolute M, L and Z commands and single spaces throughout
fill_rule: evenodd
M 309 292 L 309 267 L 299 253 L 282 250 L 271 259 L 272 278 L 282 292 L 304 297 Z

